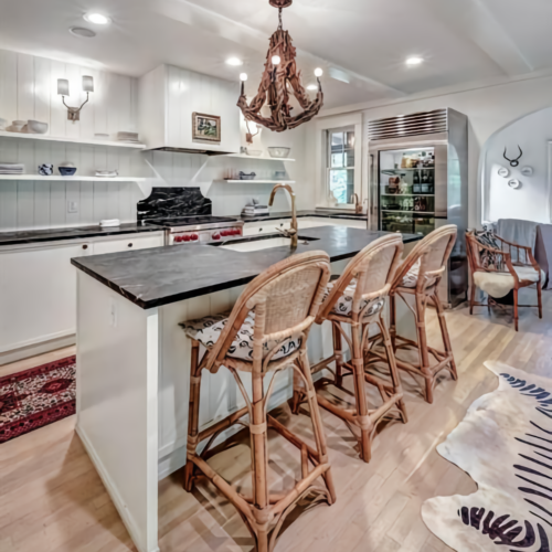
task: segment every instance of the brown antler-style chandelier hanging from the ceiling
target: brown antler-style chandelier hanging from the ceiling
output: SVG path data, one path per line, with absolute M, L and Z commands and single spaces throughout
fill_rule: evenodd
M 282 10 L 291 6 L 293 0 L 269 0 L 270 6 L 278 8 L 279 25 L 270 36 L 270 45 L 266 55 L 265 71 L 258 87 L 257 95 L 247 105 L 244 84 L 247 75 L 242 73 L 242 94 L 237 100 L 237 106 L 242 109 L 245 120 L 253 120 L 270 130 L 282 132 L 284 130 L 298 127 L 315 117 L 323 105 L 322 85 L 320 76 L 322 70 L 317 68 L 315 75 L 318 81 L 318 94 L 311 100 L 307 91 L 301 85 L 301 74 L 297 71 L 295 57 L 297 51 L 291 43 L 291 36 L 282 26 Z M 293 94 L 302 108 L 299 115 L 291 115 L 293 107 L 289 105 L 290 94 Z M 267 105 L 270 109 L 270 117 L 263 117 L 261 109 Z

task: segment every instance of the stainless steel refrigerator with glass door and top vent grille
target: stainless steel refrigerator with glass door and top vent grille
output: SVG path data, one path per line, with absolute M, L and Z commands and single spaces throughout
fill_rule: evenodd
M 458 226 L 458 240 L 439 297 L 466 300 L 468 267 L 468 119 L 450 108 L 369 123 L 370 226 L 428 234 Z

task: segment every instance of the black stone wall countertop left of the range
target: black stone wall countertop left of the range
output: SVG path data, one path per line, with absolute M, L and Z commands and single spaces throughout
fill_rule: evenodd
M 142 232 L 162 232 L 160 226 L 140 226 L 126 223 L 120 226 L 71 226 L 65 229 L 19 230 L 0 232 L 0 247 L 3 245 L 20 245 L 41 242 L 59 242 L 63 240 L 86 240 L 88 237 L 114 236 L 118 234 L 138 234 Z

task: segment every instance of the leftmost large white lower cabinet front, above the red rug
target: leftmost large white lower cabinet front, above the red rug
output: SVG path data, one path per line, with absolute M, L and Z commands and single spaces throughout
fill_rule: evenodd
M 75 333 L 76 269 L 89 243 L 0 250 L 0 353 Z

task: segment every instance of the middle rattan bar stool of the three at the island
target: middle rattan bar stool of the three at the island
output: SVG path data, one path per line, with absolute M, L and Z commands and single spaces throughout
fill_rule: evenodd
M 390 333 L 383 318 L 383 307 L 391 289 L 395 270 L 403 252 L 400 234 L 380 237 L 364 247 L 347 266 L 343 274 L 328 286 L 328 295 L 320 308 L 317 322 L 330 320 L 333 332 L 333 354 L 312 367 L 312 373 L 328 369 L 333 378 L 321 378 L 316 382 L 318 404 L 339 416 L 353 431 L 359 440 L 360 457 L 370 461 L 372 440 L 382 418 L 396 408 L 401 420 L 406 423 L 406 407 L 403 402 L 401 380 L 395 364 Z M 376 323 L 380 332 L 370 337 L 370 326 Z M 343 330 L 349 325 L 351 337 Z M 343 361 L 342 339 L 349 346 L 351 360 Z M 390 381 L 367 372 L 371 359 L 371 347 L 382 340 L 386 351 Z M 329 364 L 335 362 L 335 371 Z M 344 376 L 353 376 L 352 393 L 343 386 Z M 378 388 L 383 404 L 370 408 L 365 384 Z M 352 407 L 343 407 L 322 395 L 321 391 L 333 385 L 346 395 L 354 399 Z M 294 390 L 293 411 L 305 400 L 305 391 L 296 385 Z M 360 434 L 360 436 L 358 435 Z

